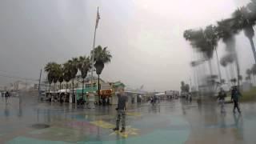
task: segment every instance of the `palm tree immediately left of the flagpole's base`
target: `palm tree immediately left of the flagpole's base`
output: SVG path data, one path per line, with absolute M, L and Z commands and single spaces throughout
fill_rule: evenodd
M 85 78 L 90 68 L 91 68 L 90 57 L 80 56 L 78 59 L 78 69 L 80 70 L 81 77 L 82 77 L 82 99 L 83 99 L 83 89 L 84 89 Z

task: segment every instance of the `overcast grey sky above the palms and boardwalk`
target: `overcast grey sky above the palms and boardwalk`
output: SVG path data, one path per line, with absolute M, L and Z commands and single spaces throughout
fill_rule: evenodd
M 179 90 L 194 82 L 194 58 L 183 31 L 230 17 L 246 0 L 1 0 L 0 84 L 38 78 L 47 62 L 66 62 L 89 54 L 99 6 L 96 45 L 108 46 L 112 62 L 106 81 L 122 81 L 145 90 Z M 254 38 L 254 42 L 255 38 Z M 253 63 L 243 33 L 236 46 L 242 73 Z M 220 42 L 220 57 L 225 50 Z M 222 70 L 223 71 L 223 70 Z M 44 74 L 45 75 L 45 74 Z

